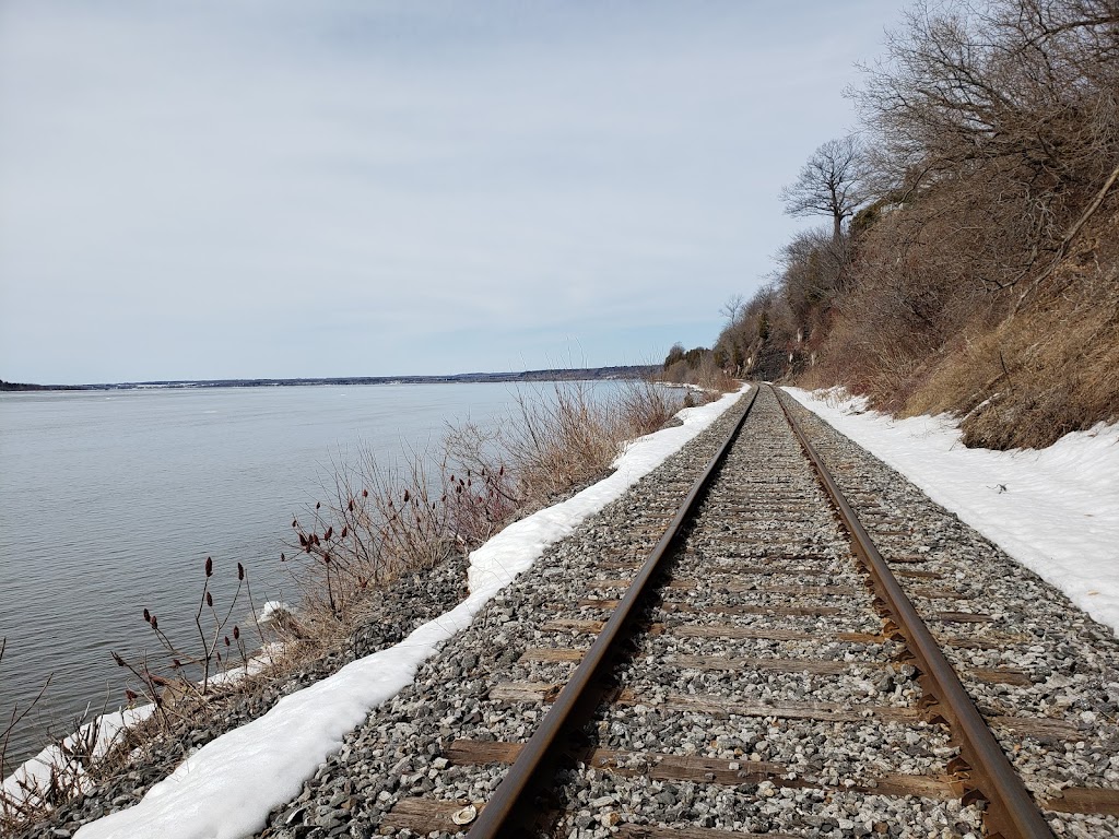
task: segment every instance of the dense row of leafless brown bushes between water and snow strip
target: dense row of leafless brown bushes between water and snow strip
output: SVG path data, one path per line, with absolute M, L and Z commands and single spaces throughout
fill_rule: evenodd
M 413 451 L 403 465 L 386 466 L 367 449 L 336 463 L 328 500 L 292 521 L 292 553 L 281 556 L 301 593 L 303 640 L 337 638 L 379 585 L 469 552 L 605 473 L 624 441 L 659 428 L 678 407 L 647 383 L 608 394 L 565 381 L 520 390 L 498 426 L 449 427 L 441 450 Z

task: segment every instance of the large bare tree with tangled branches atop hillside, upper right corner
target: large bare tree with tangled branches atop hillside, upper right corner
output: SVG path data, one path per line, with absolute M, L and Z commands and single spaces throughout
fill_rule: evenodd
M 935 243 L 989 291 L 1055 265 L 1116 183 L 1116 0 L 927 2 L 865 69 L 876 167 L 911 213 L 956 219 Z

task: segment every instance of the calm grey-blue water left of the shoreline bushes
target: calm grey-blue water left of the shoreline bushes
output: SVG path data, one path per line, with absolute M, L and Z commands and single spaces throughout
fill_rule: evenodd
M 110 650 L 158 656 L 144 607 L 190 637 L 207 555 L 219 606 L 238 562 L 257 605 L 298 600 L 282 540 L 340 454 L 435 445 L 448 421 L 486 424 L 515 398 L 485 384 L 0 394 L 2 718 L 51 677 L 6 769 L 87 706 L 123 703 Z M 246 603 L 232 620 L 247 618 Z

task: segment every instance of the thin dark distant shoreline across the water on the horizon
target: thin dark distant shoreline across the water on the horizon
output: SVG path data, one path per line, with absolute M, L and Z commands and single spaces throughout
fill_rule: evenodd
M 344 376 L 293 379 L 178 379 L 166 381 L 120 381 L 97 385 L 32 385 L 3 381 L 0 393 L 38 390 L 156 390 L 206 387 L 307 387 L 312 385 L 436 385 L 500 381 L 570 381 L 599 379 L 637 379 L 660 369 L 657 365 L 622 367 L 585 367 L 520 373 L 459 373 L 449 376 Z

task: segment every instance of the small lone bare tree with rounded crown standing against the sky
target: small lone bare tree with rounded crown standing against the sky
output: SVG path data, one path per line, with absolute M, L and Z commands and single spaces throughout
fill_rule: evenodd
M 790 216 L 831 216 L 833 241 L 843 233 L 843 220 L 863 201 L 863 149 L 852 134 L 828 140 L 808 159 L 794 183 L 781 190 Z

